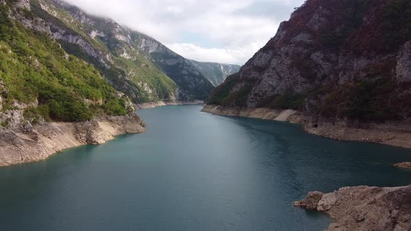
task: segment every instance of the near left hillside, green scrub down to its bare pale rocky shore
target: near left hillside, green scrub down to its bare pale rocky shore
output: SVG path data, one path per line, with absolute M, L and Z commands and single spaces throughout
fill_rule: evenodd
M 0 0 L 0 166 L 145 132 L 129 97 L 70 55 L 27 0 Z

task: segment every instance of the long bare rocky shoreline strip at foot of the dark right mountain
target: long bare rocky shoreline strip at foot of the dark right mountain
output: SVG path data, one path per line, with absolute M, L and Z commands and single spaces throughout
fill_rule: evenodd
M 347 121 L 329 122 L 313 120 L 299 111 L 266 108 L 244 109 L 218 105 L 205 105 L 201 111 L 219 116 L 242 116 L 277 120 L 303 125 L 304 131 L 339 141 L 362 141 L 411 148 L 411 122 L 348 125 Z

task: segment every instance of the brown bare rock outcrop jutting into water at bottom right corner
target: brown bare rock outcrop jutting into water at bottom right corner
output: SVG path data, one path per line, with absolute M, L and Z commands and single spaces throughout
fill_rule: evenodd
M 294 206 L 334 218 L 328 230 L 411 230 L 411 186 L 357 186 L 326 194 L 312 192 Z

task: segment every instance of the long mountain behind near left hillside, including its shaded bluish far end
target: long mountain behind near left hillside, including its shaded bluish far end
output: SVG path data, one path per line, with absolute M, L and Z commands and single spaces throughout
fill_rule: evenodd
M 213 89 L 189 61 L 147 35 L 112 19 L 88 15 L 65 1 L 30 3 L 34 15 L 68 54 L 93 64 L 134 103 L 206 99 Z

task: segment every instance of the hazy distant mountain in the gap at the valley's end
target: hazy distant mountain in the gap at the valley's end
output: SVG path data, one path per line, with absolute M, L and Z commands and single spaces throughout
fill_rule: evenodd
M 214 86 L 219 86 L 226 78 L 240 70 L 240 65 L 222 63 L 204 63 L 190 60 L 190 62 L 206 77 Z

